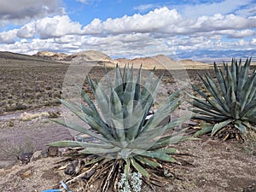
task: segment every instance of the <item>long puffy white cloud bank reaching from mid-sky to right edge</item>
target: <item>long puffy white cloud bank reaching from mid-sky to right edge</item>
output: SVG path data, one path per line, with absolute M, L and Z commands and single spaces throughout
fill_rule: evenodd
M 151 33 L 154 37 L 166 35 L 188 35 L 195 32 L 212 32 L 220 30 L 243 30 L 256 27 L 256 17 L 239 15 L 200 16 L 196 19 L 185 19 L 176 9 L 154 9 L 146 15 L 108 18 L 105 21 L 95 19 L 84 26 L 84 34 L 123 34 Z M 248 34 L 248 33 L 247 33 Z M 253 34 L 253 33 L 251 33 Z

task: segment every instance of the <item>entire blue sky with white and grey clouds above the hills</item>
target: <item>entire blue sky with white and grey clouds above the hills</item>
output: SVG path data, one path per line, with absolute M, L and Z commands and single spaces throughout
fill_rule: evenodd
M 256 0 L 0 0 L 0 51 L 256 56 Z M 252 55 L 253 54 L 253 55 Z

